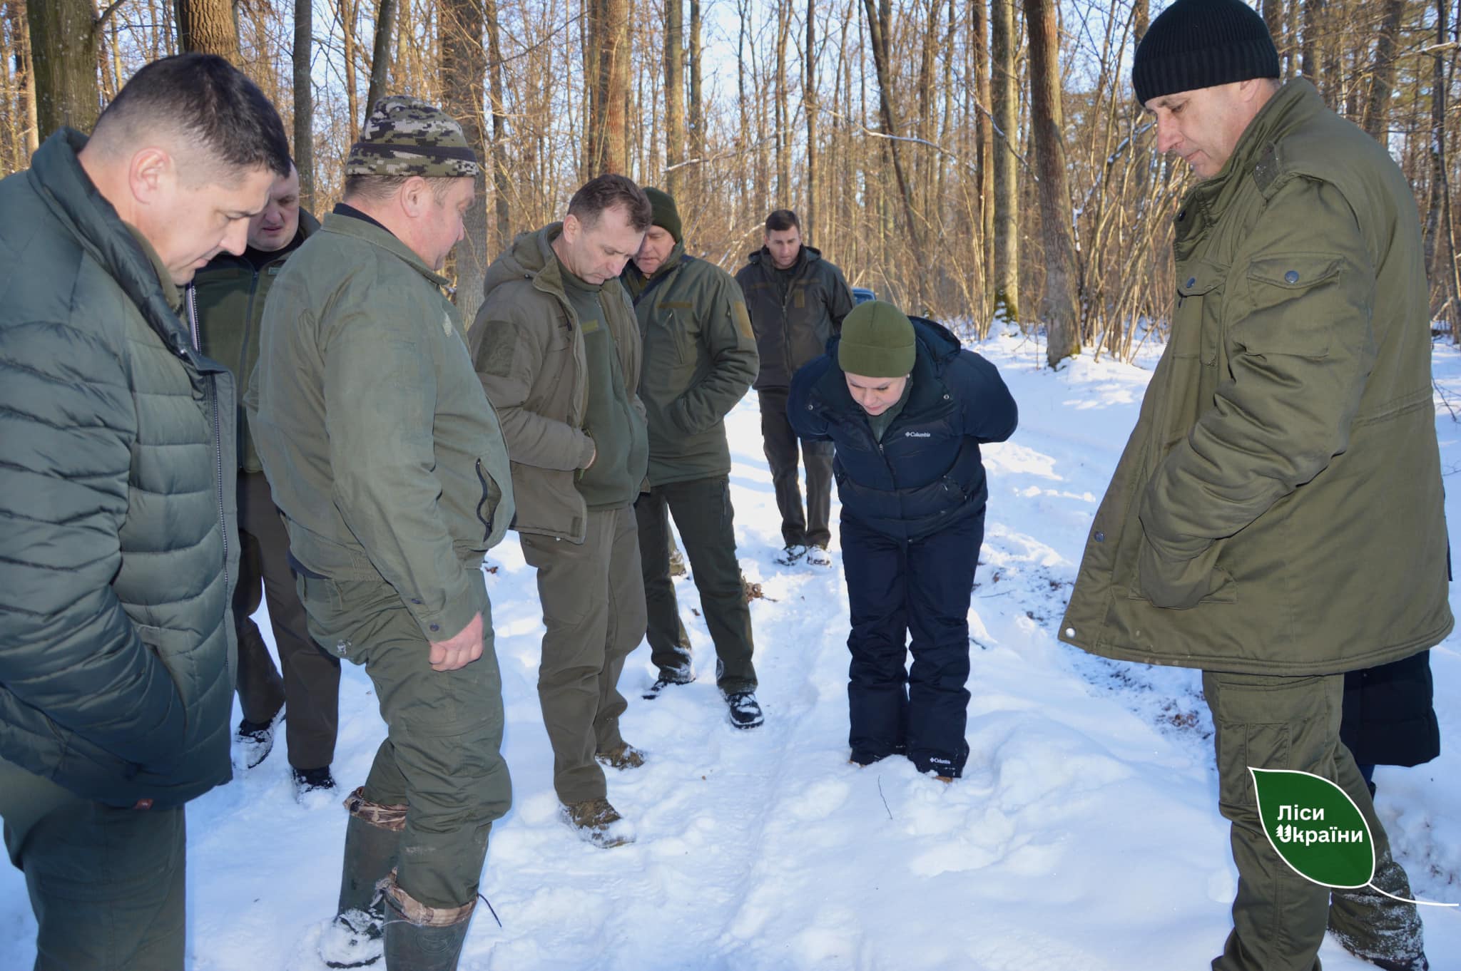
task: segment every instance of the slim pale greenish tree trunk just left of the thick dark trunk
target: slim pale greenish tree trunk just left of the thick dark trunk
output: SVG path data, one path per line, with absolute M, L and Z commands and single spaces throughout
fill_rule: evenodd
M 993 312 L 1010 323 L 1020 323 L 1020 220 L 1017 193 L 1020 174 L 1015 168 L 1015 139 L 1020 137 L 1020 93 L 1015 88 L 1012 0 L 991 0 L 991 99 L 995 126 L 995 258 Z

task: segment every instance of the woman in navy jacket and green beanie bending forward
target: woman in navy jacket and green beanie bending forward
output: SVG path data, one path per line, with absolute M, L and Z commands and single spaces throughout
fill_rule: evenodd
M 798 435 L 837 450 L 852 761 L 906 753 L 920 772 L 957 778 L 989 495 L 979 445 L 1010 438 L 1014 399 L 945 327 L 871 301 L 796 372 L 786 412 Z

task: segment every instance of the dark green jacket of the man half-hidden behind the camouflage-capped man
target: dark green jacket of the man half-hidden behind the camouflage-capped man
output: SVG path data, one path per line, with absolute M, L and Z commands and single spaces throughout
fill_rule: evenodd
M 320 228 L 320 220 L 300 212 L 300 229 L 295 241 L 308 239 Z M 197 315 L 199 339 L 203 353 L 221 361 L 232 372 L 240 387 L 248 387 L 248 377 L 259 362 L 259 324 L 264 315 L 264 299 L 275 277 L 283 269 L 283 261 L 294 250 L 283 250 L 279 257 L 260 269 L 241 256 L 222 251 L 193 277 L 188 291 Z M 238 402 L 238 467 L 244 472 L 263 472 L 254 440 L 248 435 L 244 419 L 244 403 Z

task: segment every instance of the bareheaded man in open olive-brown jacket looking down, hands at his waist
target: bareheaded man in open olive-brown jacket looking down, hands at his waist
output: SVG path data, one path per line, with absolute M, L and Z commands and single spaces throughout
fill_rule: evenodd
M 643 190 L 600 175 L 562 222 L 526 232 L 487 270 L 469 343 L 503 416 L 519 496 L 513 529 L 543 610 L 538 699 L 554 791 L 580 837 L 612 847 L 633 829 L 609 803 L 605 762 L 643 764 L 619 734 L 624 659 L 644 640 L 634 499 L 649 442 L 640 334 L 619 285 L 650 222 Z

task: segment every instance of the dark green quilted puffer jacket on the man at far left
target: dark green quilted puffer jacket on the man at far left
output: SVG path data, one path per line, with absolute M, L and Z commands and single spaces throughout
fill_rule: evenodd
M 0 758 L 177 806 L 231 775 L 234 380 L 85 143 L 0 183 Z

